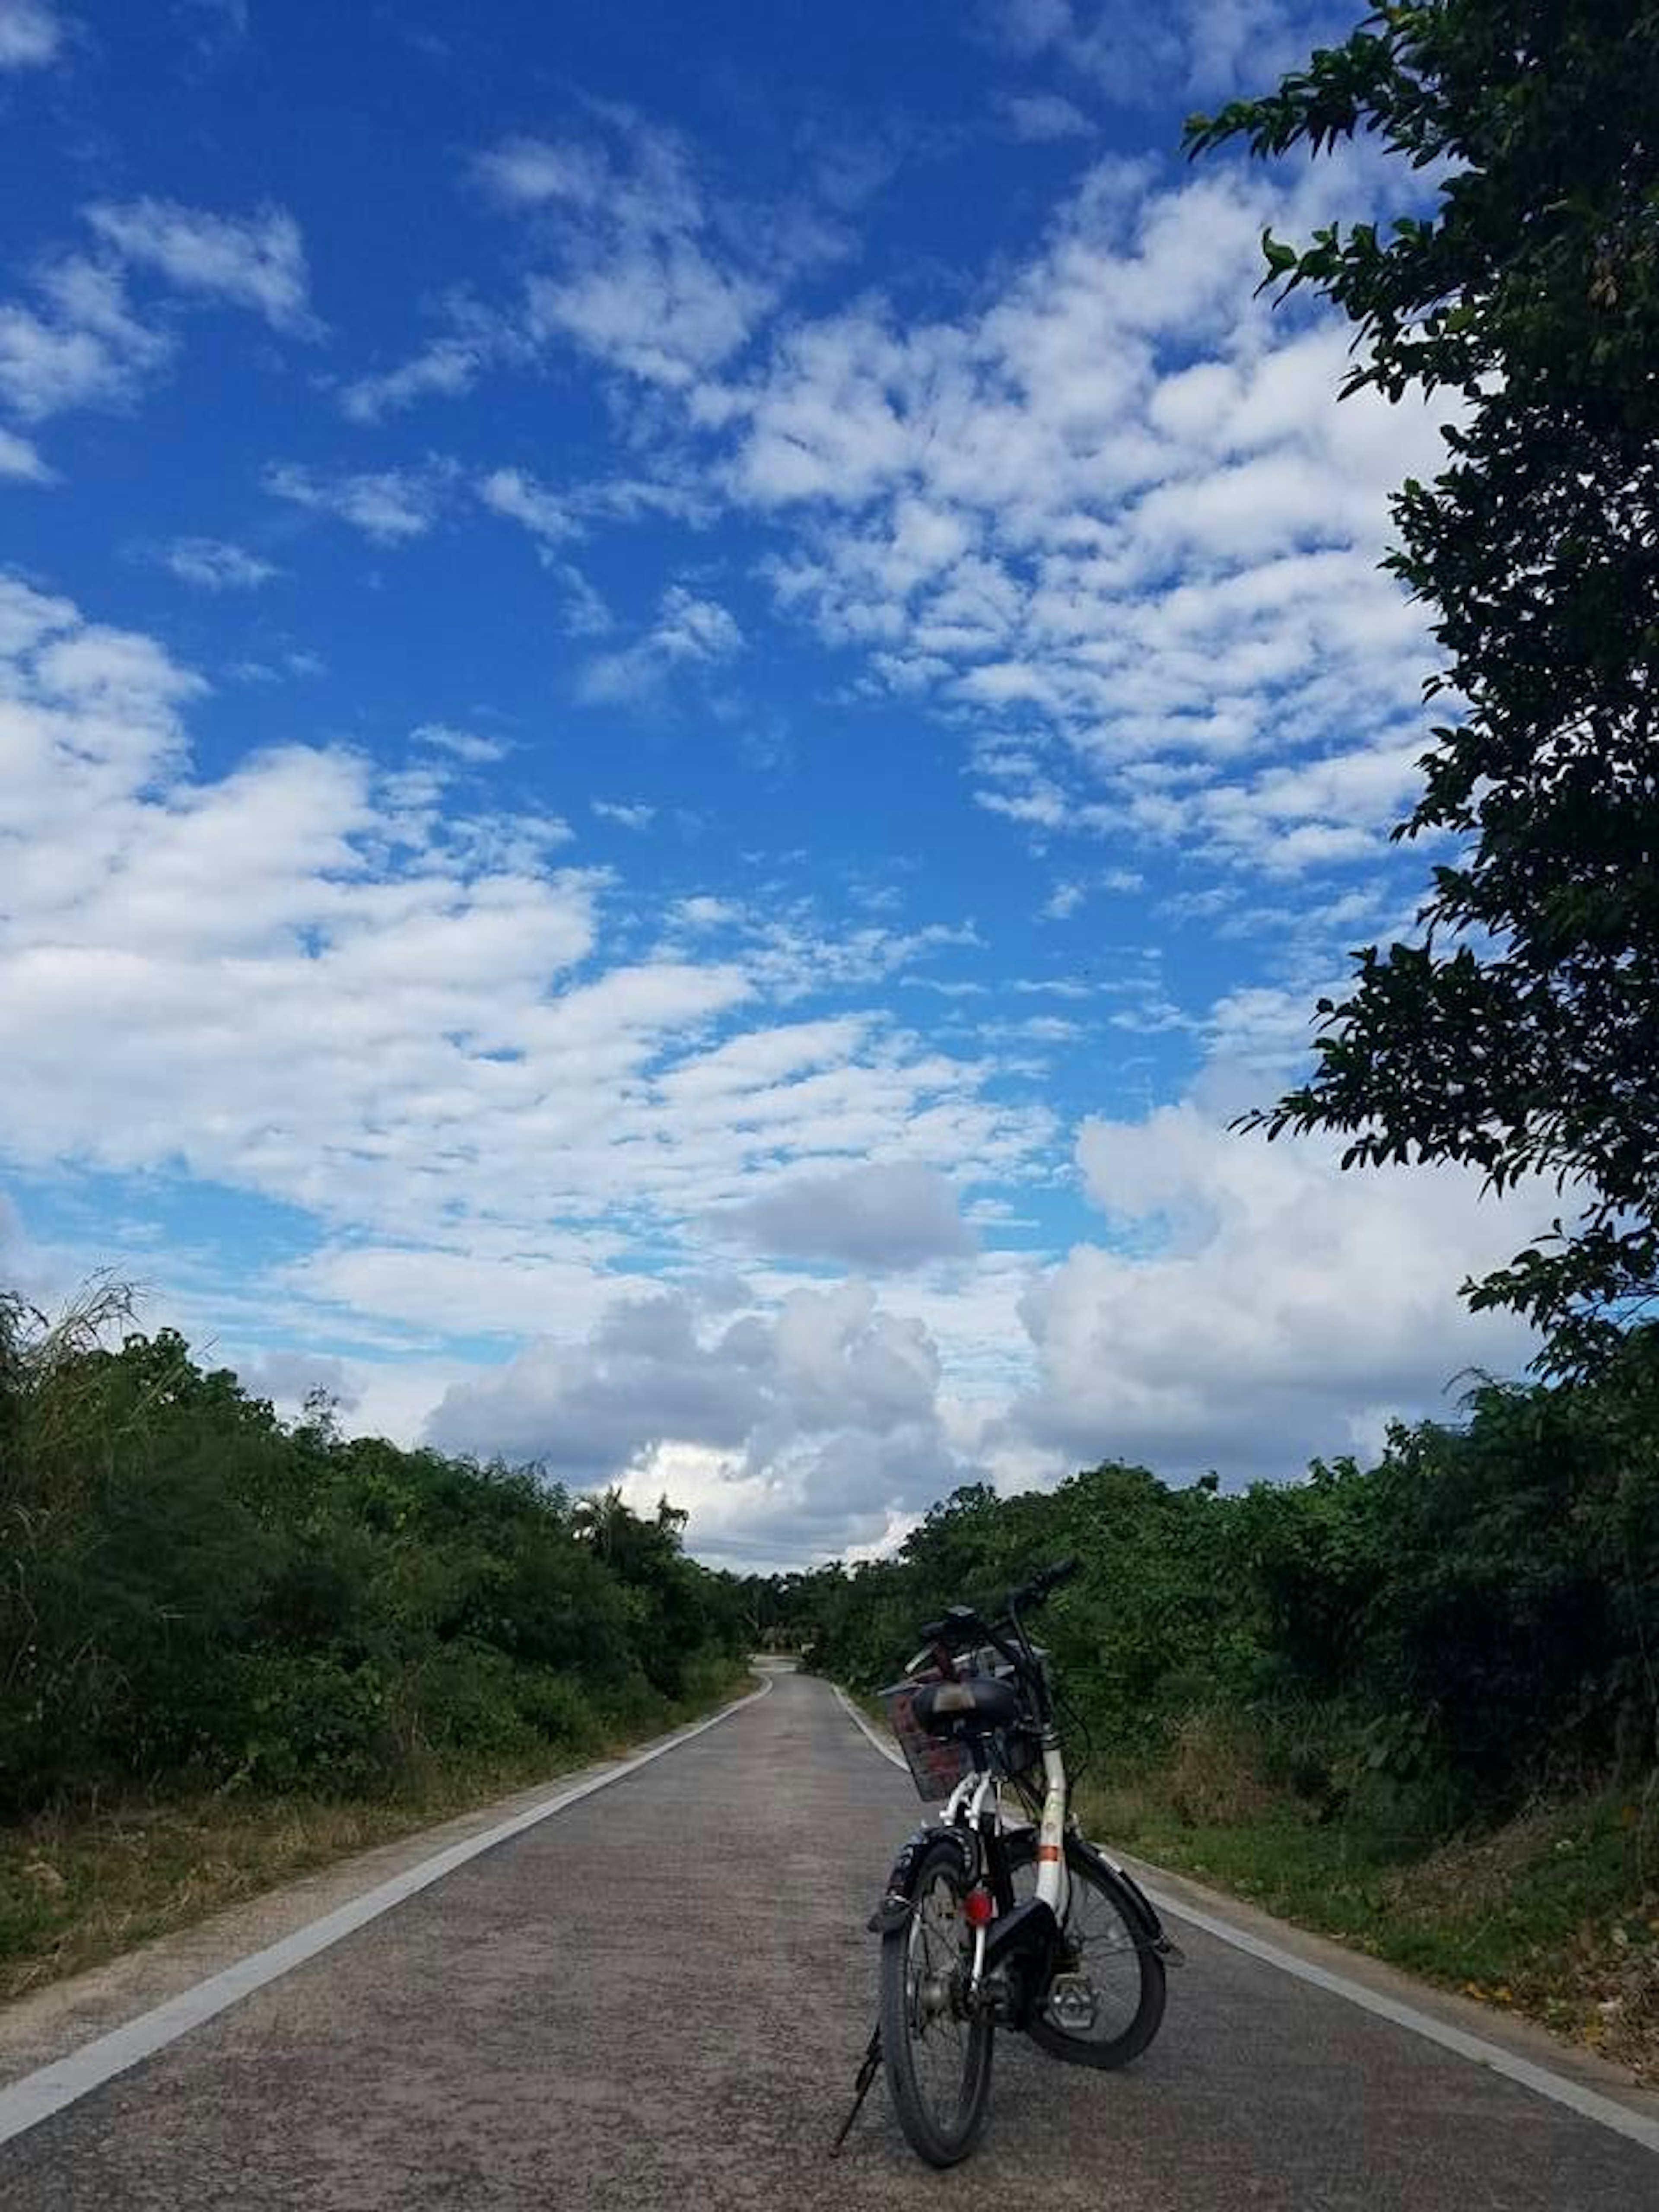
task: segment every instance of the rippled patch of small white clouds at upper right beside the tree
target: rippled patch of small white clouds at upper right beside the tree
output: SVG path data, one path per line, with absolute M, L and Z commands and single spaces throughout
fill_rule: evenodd
M 779 606 L 956 721 L 978 803 L 1035 845 L 1391 865 L 1429 644 L 1378 555 L 1438 427 L 1338 407 L 1345 332 L 1250 299 L 1263 223 L 1369 208 L 1367 161 L 1316 186 L 1102 161 L 973 314 L 860 301 L 692 394 L 688 434 L 779 529 Z

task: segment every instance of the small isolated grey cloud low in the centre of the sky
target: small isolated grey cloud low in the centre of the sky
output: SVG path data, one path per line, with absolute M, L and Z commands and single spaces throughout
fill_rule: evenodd
M 717 1228 L 770 1259 L 841 1261 L 878 1274 L 975 1250 L 951 1183 L 914 1159 L 794 1177 L 732 1208 Z

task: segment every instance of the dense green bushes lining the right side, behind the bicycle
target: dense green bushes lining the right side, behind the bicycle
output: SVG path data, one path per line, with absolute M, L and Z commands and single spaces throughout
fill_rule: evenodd
M 1402 1843 L 1659 1763 L 1659 1329 L 1599 1383 L 1484 1383 L 1464 1425 L 1305 1480 L 1172 1489 L 1108 1462 L 956 1491 L 898 1557 L 752 1604 L 876 1688 L 916 1626 L 1064 1553 L 1040 1637 L 1110 1772 L 1243 1743 L 1310 1818 Z

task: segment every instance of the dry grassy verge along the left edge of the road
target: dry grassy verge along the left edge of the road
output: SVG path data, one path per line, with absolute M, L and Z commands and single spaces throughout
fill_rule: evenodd
M 248 1790 L 124 1796 L 0 1827 L 0 2004 L 495 1798 L 617 1756 L 748 1688 L 750 1670 L 650 1728 L 533 1752 L 425 1759 L 374 1798 Z

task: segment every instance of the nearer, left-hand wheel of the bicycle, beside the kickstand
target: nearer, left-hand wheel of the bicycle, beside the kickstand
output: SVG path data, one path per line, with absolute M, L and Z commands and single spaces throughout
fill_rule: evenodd
M 991 2095 L 991 2017 L 969 2011 L 973 1929 L 951 1843 L 925 1854 L 909 1918 L 880 1944 L 880 2055 L 898 2126 L 929 2166 L 980 2139 Z

